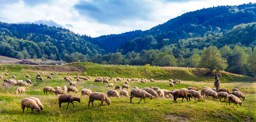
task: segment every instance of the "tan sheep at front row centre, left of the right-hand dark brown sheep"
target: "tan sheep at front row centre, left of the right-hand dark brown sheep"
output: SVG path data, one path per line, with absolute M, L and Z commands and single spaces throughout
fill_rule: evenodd
M 131 99 L 134 98 L 134 97 L 140 98 L 140 101 L 143 99 L 143 100 L 144 100 L 144 103 L 146 103 L 146 102 L 145 102 L 145 98 L 146 98 L 146 97 L 148 97 L 148 98 L 150 98 L 150 99 L 153 98 L 151 94 L 149 94 L 148 92 L 146 92 L 146 91 L 144 91 L 144 90 L 140 90 L 140 89 L 131 89 L 130 103 L 132 103 L 132 102 L 131 102 Z M 140 102 L 139 102 L 139 103 L 140 103 Z M 139 104 L 139 103 L 138 103 L 138 104 Z

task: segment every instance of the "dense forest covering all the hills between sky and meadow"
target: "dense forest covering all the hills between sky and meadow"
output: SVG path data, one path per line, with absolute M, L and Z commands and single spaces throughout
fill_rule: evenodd
M 0 55 L 68 63 L 203 67 L 256 76 L 255 13 L 252 3 L 203 8 L 150 30 L 97 38 L 54 26 L 0 22 Z

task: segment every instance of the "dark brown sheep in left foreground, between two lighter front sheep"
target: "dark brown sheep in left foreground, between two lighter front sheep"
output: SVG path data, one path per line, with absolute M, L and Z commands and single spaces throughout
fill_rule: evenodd
M 68 105 L 69 103 L 72 103 L 73 104 L 73 101 L 77 101 L 80 103 L 80 98 L 79 97 L 73 97 L 71 95 L 67 95 L 67 94 L 63 94 L 61 96 L 59 96 L 59 106 L 60 106 L 60 109 L 61 109 L 61 103 L 67 103 L 67 108 L 68 108 Z M 75 108 L 74 104 L 73 104 L 73 107 Z

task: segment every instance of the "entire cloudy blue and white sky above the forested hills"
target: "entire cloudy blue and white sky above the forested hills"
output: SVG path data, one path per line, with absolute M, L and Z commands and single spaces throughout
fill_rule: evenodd
M 0 21 L 68 28 L 97 37 L 148 30 L 189 11 L 256 0 L 0 0 Z

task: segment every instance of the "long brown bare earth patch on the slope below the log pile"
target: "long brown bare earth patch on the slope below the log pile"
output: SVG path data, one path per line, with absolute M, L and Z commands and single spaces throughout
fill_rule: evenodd
M 84 72 L 86 70 L 85 67 L 82 67 L 80 65 L 76 67 L 70 67 L 70 66 L 33 66 L 30 67 L 33 70 L 41 70 L 41 71 L 54 71 L 54 72 Z

